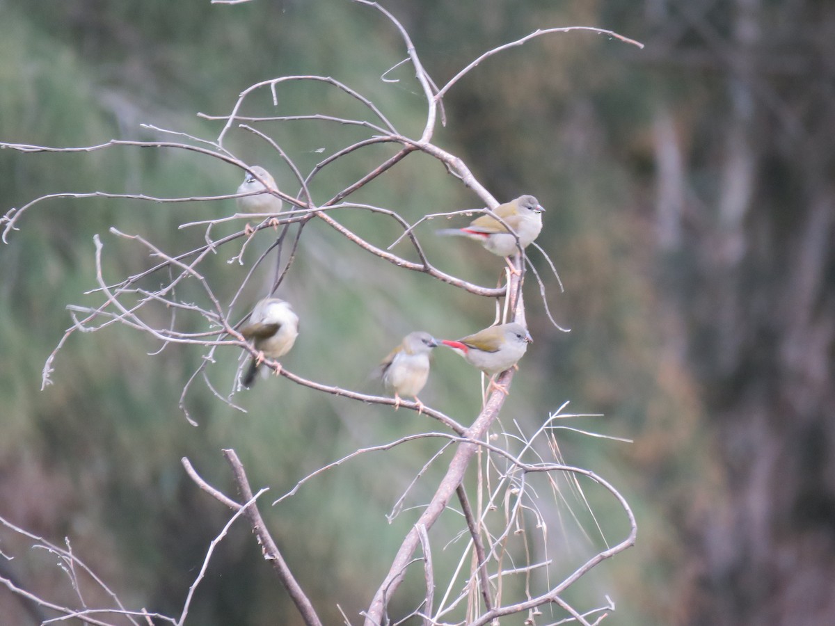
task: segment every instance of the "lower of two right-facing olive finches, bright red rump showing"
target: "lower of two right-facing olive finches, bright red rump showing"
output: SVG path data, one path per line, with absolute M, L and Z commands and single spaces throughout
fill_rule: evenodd
M 490 326 L 458 341 L 444 339 L 441 343 L 458 352 L 470 365 L 488 376 L 495 376 L 498 372 L 515 366 L 532 341 L 534 340 L 524 326 L 511 322 Z M 504 387 L 496 385 L 492 379 L 490 386 L 505 394 L 508 392 Z

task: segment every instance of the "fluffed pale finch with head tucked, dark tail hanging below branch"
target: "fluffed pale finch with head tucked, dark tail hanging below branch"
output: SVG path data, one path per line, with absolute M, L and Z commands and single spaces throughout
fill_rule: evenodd
M 251 387 L 256 381 L 258 368 L 265 358 L 279 359 L 296 343 L 299 335 L 299 317 L 291 305 L 279 298 L 260 300 L 252 310 L 249 323 L 240 329 L 240 334 L 252 341 L 258 351 L 253 356 L 240 384 Z

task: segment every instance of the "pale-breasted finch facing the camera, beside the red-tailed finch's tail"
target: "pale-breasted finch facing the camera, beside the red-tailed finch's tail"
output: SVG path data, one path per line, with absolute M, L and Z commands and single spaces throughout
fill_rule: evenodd
M 423 402 L 417 399 L 417 394 L 426 385 L 429 353 L 435 346 L 438 346 L 438 340 L 428 332 L 410 332 L 377 367 L 377 375 L 383 384 L 394 391 L 395 409 L 400 406 L 400 396 L 412 396 L 417 412 L 423 412 Z

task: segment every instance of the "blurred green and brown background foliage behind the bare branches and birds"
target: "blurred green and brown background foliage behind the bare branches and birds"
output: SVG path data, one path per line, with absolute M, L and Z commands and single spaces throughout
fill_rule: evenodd
M 514 380 L 504 427 L 517 420 L 530 432 L 570 401 L 569 411 L 603 416 L 560 423 L 635 440 L 556 431 L 566 460 L 615 482 L 639 517 L 635 548 L 596 568 L 568 598 L 591 607 L 608 593 L 617 611 L 606 621 L 623 624 L 835 621 L 835 9 L 812 0 L 385 5 L 438 83 L 536 28 L 595 25 L 646 43 L 639 51 L 569 33 L 511 48 L 453 88 L 448 126 L 436 135 L 498 199 L 532 193 L 548 210 L 539 243 L 564 293 L 539 253 L 530 256 L 554 316 L 572 330 L 550 325 L 529 276 L 536 342 Z M 252 83 L 292 74 L 337 78 L 417 136 L 425 104 L 411 70 L 392 73 L 398 83 L 380 80 L 403 56 L 381 15 L 342 0 L 6 0 L 0 139 L 80 146 L 159 137 L 139 124 L 214 138 L 220 124 L 195 113 L 228 112 Z M 263 90 L 245 113 L 364 115 L 325 85 L 292 83 L 279 93 L 277 110 Z M 259 128 L 303 172 L 365 136 L 323 122 Z M 295 191 L 265 142 L 239 130 L 227 147 Z M 315 199 L 389 154 L 376 148 L 342 159 L 321 174 Z M 94 190 L 228 194 L 240 175 L 180 151 L 2 150 L 0 206 Z M 409 220 L 481 205 L 414 154 L 351 199 Z M 110 235 L 111 225 L 174 252 L 203 237 L 177 225 L 233 210 L 230 201 L 51 199 L 0 248 L 0 514 L 56 543 L 70 538 L 125 603 L 162 613 L 178 611 L 228 516 L 185 477 L 180 457 L 229 487 L 220 448 L 234 447 L 253 486 L 271 487 L 271 501 L 357 447 L 426 428 L 410 411 L 357 405 L 284 379 L 236 394 L 245 413 L 195 386 L 185 399 L 199 422 L 191 427 L 178 401 L 201 352 L 169 346 L 149 356 L 159 346 L 124 327 L 72 336 L 54 361 L 54 384 L 40 390 L 44 361 L 69 326 L 65 305 L 98 301 L 83 295 L 95 286 L 94 234 L 115 280 L 153 260 Z M 393 221 L 338 216 L 383 247 L 397 236 Z M 441 269 L 494 283 L 500 261 L 468 242 L 439 242 L 432 230 L 418 235 Z M 266 231 L 256 238 L 247 265 L 270 242 Z M 409 254 L 406 245 L 397 250 Z M 235 251 L 203 265 L 225 301 L 247 270 L 227 263 Z M 268 267 L 258 271 L 239 315 L 270 280 Z M 198 292 L 185 285 L 184 293 Z M 488 301 L 361 254 L 316 222 L 279 295 L 303 317 L 286 366 L 352 388 L 367 386 L 367 372 L 407 331 L 457 337 L 493 319 Z M 220 351 L 210 368 L 221 391 L 234 381 L 237 356 Z M 457 356 L 438 353 L 422 398 L 468 423 L 478 377 Z M 389 525 L 384 516 L 439 445 L 359 457 L 279 507 L 263 507 L 326 623 L 341 623 L 337 602 L 354 616 L 371 597 L 412 519 L 403 513 Z M 412 503 L 426 501 L 438 467 L 417 483 Z M 624 529 L 615 508 L 584 488 L 606 538 L 617 541 Z M 600 543 L 561 528 L 565 510 L 546 513 L 553 555 L 568 560 Z M 0 549 L 13 552 L 16 541 L 3 534 Z M 28 587 L 72 596 L 44 555 L 12 566 Z M 402 610 L 421 597 L 413 587 Z M 30 619 L 8 593 L 0 592 L 0 608 L 10 623 Z M 190 623 L 208 625 L 298 623 L 242 523 L 220 544 L 190 614 Z

